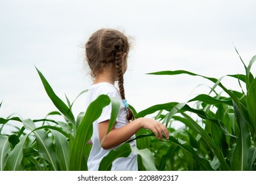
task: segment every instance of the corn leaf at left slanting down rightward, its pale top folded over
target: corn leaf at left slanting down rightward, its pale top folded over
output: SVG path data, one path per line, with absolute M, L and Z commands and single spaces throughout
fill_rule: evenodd
M 49 139 L 47 133 L 41 129 L 35 130 L 37 127 L 30 119 L 22 120 L 22 123 L 24 124 L 24 127 L 26 127 L 26 129 L 28 129 L 29 131 L 33 131 L 33 133 L 36 135 L 38 152 L 42 156 L 42 158 L 47 160 L 49 164 L 53 166 L 53 170 L 59 170 L 59 163 L 57 161 L 56 151 L 53 146 L 53 142 L 51 141 L 51 139 Z

